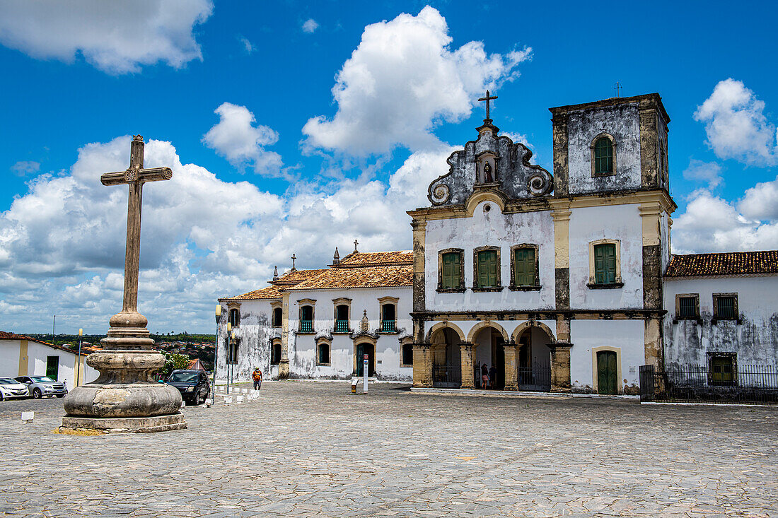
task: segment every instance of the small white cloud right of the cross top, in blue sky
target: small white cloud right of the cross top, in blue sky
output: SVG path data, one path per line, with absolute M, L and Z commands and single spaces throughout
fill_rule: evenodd
M 205 145 L 240 169 L 251 165 L 256 173 L 279 174 L 281 156 L 265 149 L 279 141 L 278 133 L 268 126 L 254 126 L 254 114 L 244 106 L 223 103 L 214 113 L 219 122 L 203 136 Z

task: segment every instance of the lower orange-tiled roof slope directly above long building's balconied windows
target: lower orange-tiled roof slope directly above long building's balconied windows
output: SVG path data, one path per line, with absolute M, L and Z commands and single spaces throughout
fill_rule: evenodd
M 330 268 L 289 289 L 389 288 L 410 286 L 412 280 L 413 267 L 409 265 Z

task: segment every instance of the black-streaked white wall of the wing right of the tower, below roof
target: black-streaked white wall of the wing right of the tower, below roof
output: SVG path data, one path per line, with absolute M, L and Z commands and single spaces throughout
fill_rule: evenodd
M 699 294 L 696 320 L 675 318 L 675 296 Z M 713 293 L 737 293 L 742 324 L 713 319 Z M 664 361 L 706 365 L 709 352 L 735 352 L 738 365 L 778 366 L 778 275 L 664 279 Z

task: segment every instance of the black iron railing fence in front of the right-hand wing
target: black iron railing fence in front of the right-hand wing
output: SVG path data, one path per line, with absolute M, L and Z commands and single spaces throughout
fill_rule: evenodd
M 738 365 L 722 375 L 705 365 L 640 366 L 640 401 L 778 404 L 778 369 Z

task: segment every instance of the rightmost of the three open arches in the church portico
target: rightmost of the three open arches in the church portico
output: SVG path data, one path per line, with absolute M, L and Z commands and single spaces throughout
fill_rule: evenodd
M 551 390 L 551 348 L 553 338 L 542 327 L 517 329 L 516 367 L 519 390 Z

